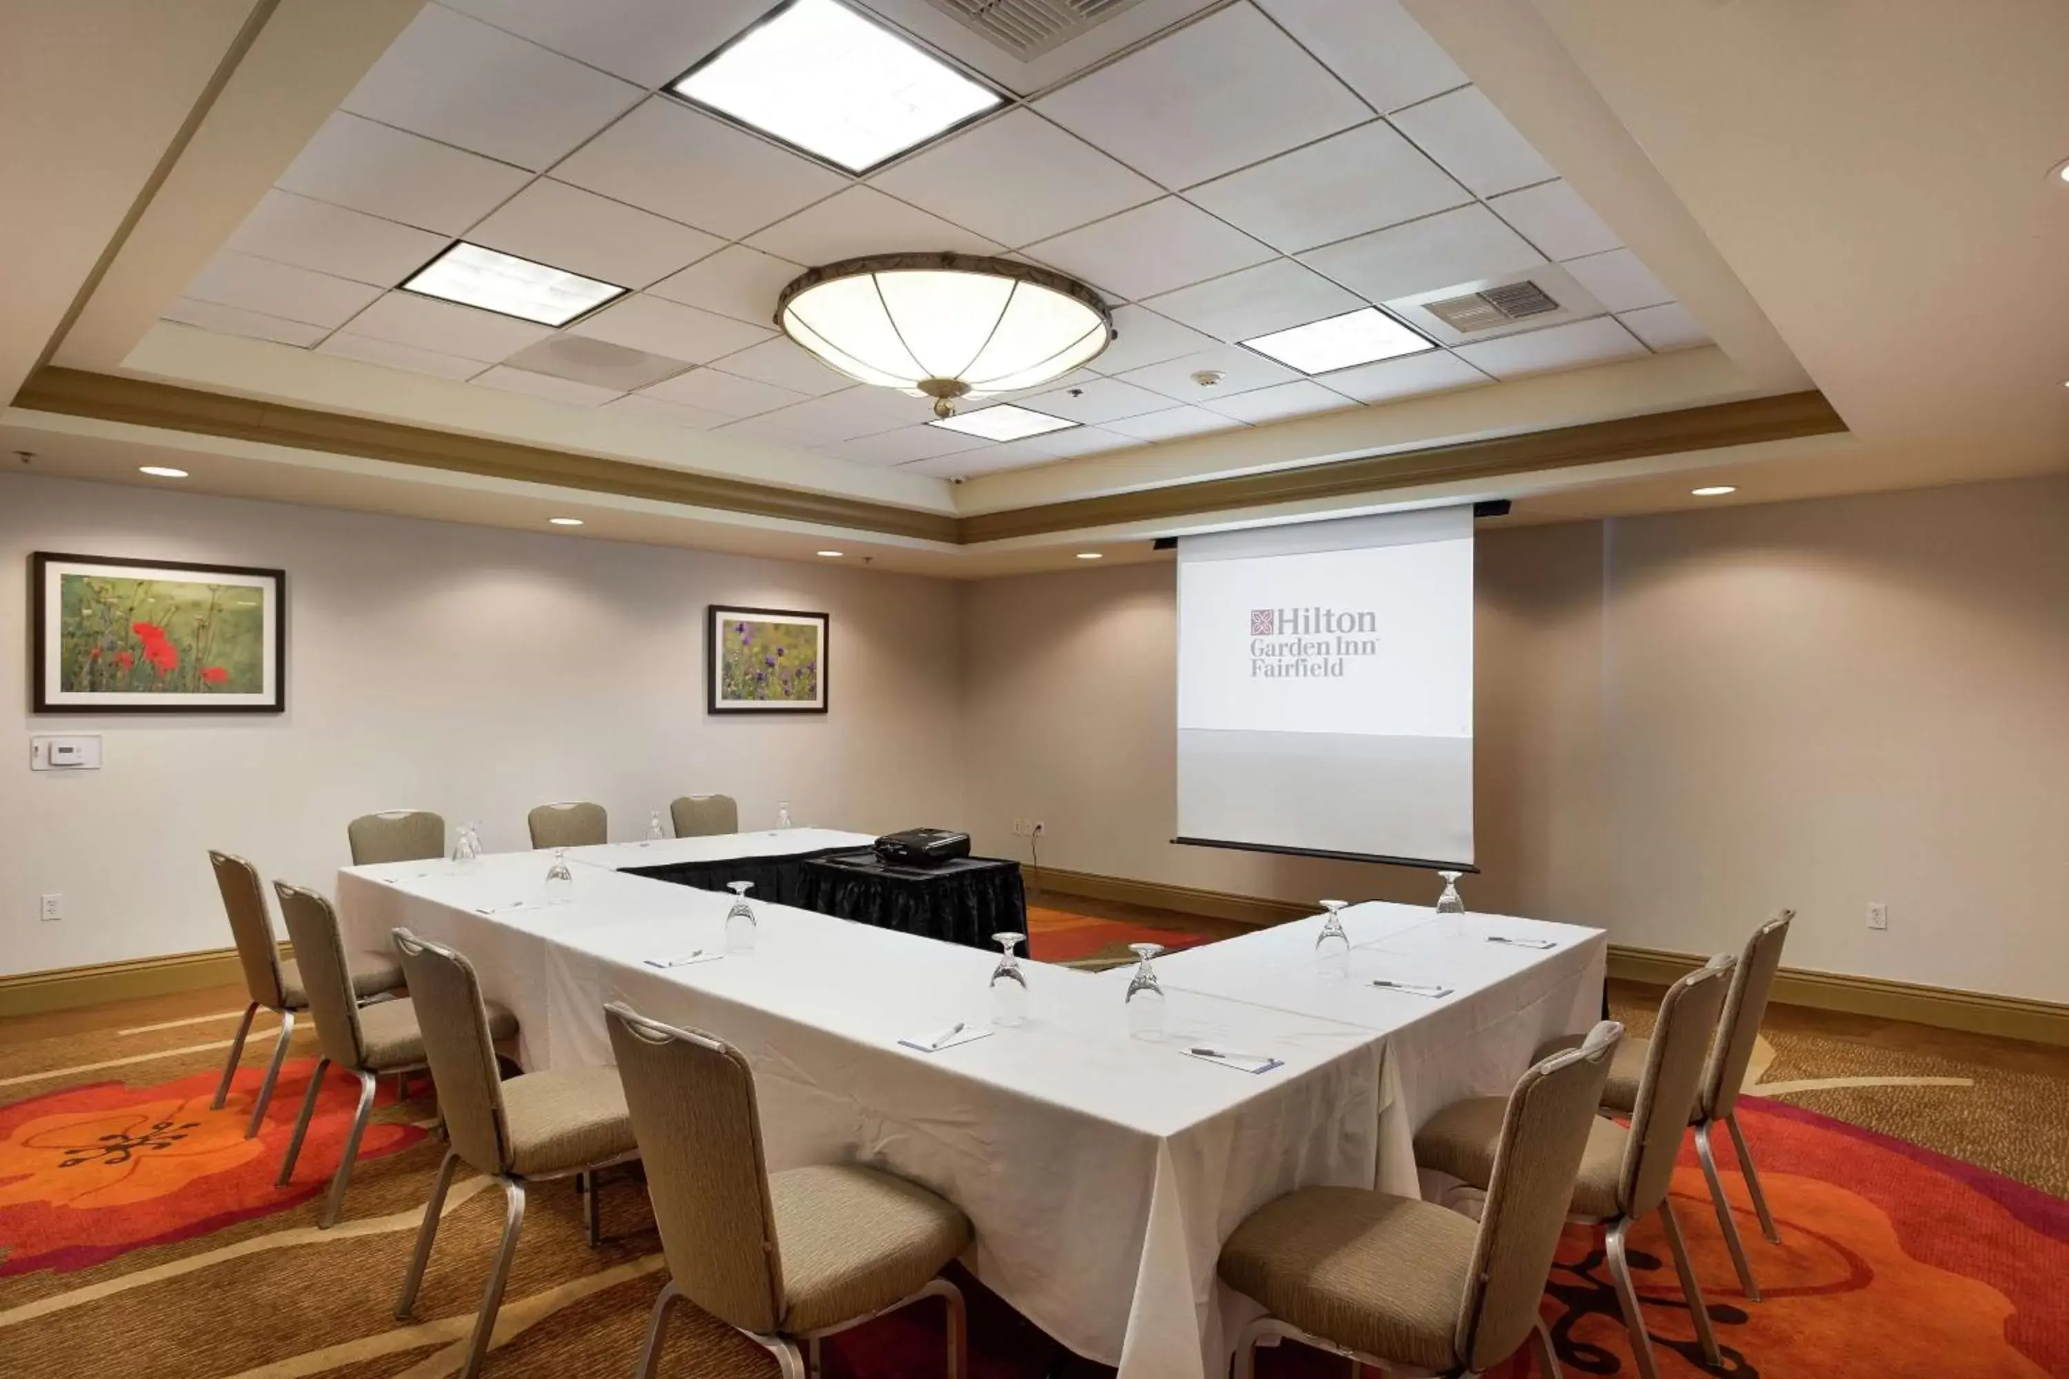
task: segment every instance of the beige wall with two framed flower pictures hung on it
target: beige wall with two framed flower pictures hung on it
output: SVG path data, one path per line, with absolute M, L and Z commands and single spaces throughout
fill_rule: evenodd
M 288 713 L 31 717 L 31 550 L 283 566 Z M 710 602 L 832 612 L 832 711 L 708 717 Z M 329 889 L 372 808 L 478 819 L 490 848 L 567 798 L 614 837 L 699 790 L 751 827 L 776 800 L 871 831 L 960 813 L 956 589 L 931 579 L 0 476 L 0 974 L 226 947 L 207 848 Z M 31 732 L 97 732 L 106 767 L 31 773 Z

